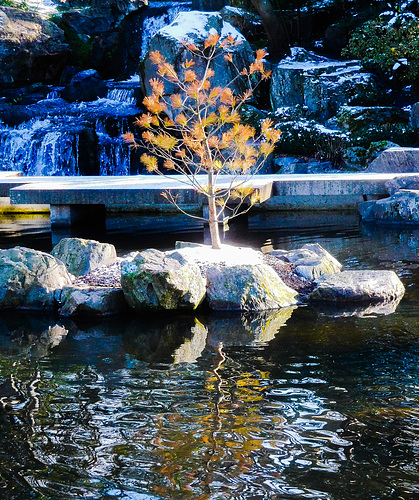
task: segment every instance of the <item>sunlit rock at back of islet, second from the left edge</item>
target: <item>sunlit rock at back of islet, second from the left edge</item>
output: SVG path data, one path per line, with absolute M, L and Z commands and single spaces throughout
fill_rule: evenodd
M 116 250 L 110 243 L 100 243 L 83 238 L 63 238 L 51 255 L 60 259 L 75 276 L 88 274 L 102 266 L 110 266 L 116 260 Z

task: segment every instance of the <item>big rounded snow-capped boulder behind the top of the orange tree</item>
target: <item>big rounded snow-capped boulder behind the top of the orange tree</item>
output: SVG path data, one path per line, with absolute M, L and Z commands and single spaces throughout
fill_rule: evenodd
M 232 47 L 229 51 L 233 54 L 235 65 L 241 70 L 249 66 L 252 59 L 252 50 L 243 35 L 239 33 L 230 23 L 224 21 L 221 14 L 216 12 L 181 12 L 169 25 L 162 28 L 152 39 L 149 52 L 141 65 L 141 72 L 145 86 L 145 93 L 151 93 L 150 79 L 156 76 L 156 66 L 150 61 L 148 55 L 151 51 L 158 50 L 167 62 L 172 64 L 175 70 L 182 74 L 182 64 L 192 58 L 191 53 L 185 48 L 183 42 L 193 43 L 196 46 L 203 45 L 203 42 L 211 33 L 221 34 L 221 40 L 228 36 L 234 37 L 241 42 L 237 47 Z M 194 71 L 202 75 L 205 68 L 205 61 L 195 58 Z M 243 90 L 239 85 L 240 79 L 235 83 L 230 82 L 237 76 L 234 65 L 219 57 L 214 62 L 213 70 L 215 75 L 211 78 L 213 87 L 225 87 L 229 85 L 233 90 Z M 172 94 L 177 91 L 176 86 L 171 83 L 166 84 L 166 93 Z

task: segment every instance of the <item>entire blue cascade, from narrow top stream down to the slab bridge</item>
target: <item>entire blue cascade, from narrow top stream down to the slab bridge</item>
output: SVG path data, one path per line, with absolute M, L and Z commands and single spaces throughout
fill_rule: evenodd
M 38 12 L 55 5 L 52 0 L 31 0 Z M 152 36 L 190 7 L 190 1 L 152 2 L 127 16 L 126 46 L 135 52 L 126 54 L 132 66 L 126 68 L 128 74 L 138 70 L 139 56 L 146 54 Z M 106 98 L 88 102 L 65 101 L 60 97 L 64 87 L 48 88 L 41 100 L 26 90 L 25 102 L 0 98 L 0 170 L 45 176 L 138 173 L 121 135 L 140 113 L 140 79 L 135 75 L 106 85 Z

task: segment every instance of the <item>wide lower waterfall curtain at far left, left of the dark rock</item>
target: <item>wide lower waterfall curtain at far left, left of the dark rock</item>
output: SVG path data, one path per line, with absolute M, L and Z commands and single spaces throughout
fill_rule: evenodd
M 0 168 L 25 175 L 78 175 L 79 134 L 64 123 L 32 119 L 0 125 Z

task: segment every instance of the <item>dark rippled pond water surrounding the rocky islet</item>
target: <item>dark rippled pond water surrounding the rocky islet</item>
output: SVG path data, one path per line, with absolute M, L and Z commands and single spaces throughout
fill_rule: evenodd
M 104 238 L 202 240 L 149 223 L 110 221 Z M 258 215 L 228 238 L 317 241 L 346 268 L 394 269 L 407 293 L 393 313 L 0 316 L 0 498 L 419 498 L 419 229 Z M 5 219 L 0 244 L 48 249 L 48 224 Z

